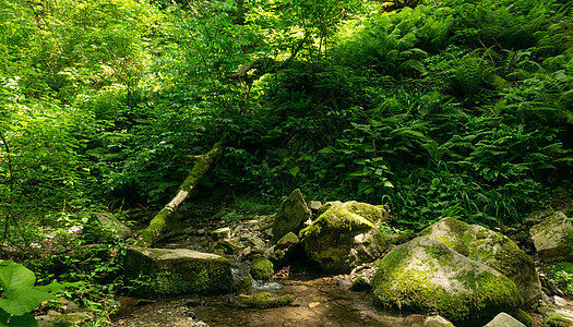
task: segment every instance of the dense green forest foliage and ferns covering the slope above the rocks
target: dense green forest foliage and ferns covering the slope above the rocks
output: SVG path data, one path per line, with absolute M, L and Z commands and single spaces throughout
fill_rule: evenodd
M 145 227 L 216 144 L 177 215 L 268 215 L 300 189 L 411 232 L 503 231 L 568 201 L 573 2 L 415 4 L 0 0 L 0 257 L 110 324 L 133 240 L 72 227 Z

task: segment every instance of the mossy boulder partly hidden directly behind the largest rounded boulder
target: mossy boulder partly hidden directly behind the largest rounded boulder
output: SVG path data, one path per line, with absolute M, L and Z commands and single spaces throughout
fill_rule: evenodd
M 533 259 L 508 237 L 454 218 L 443 218 L 420 235 L 432 235 L 459 254 L 505 275 L 515 282 L 526 307 L 537 305 L 541 299 L 541 283 Z

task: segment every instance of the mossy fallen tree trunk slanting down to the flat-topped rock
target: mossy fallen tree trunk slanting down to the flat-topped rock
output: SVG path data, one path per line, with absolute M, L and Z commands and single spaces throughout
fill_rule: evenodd
M 139 246 L 148 247 L 157 240 L 162 231 L 165 229 L 167 219 L 181 206 L 181 204 L 183 204 L 201 178 L 207 172 L 213 160 L 215 160 L 215 158 L 222 153 L 222 147 L 223 142 L 219 141 L 208 153 L 196 157 L 191 173 L 189 173 L 183 183 L 181 183 L 175 197 L 171 198 L 171 201 L 165 205 L 155 217 L 153 217 L 147 228 L 142 229 L 138 233 L 136 242 Z

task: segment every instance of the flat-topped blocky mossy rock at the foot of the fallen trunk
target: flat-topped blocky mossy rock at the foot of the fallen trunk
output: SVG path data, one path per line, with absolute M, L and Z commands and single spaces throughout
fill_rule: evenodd
M 128 247 L 123 268 L 128 277 L 145 280 L 138 295 L 167 298 L 190 293 L 226 293 L 232 287 L 230 262 L 187 249 Z

